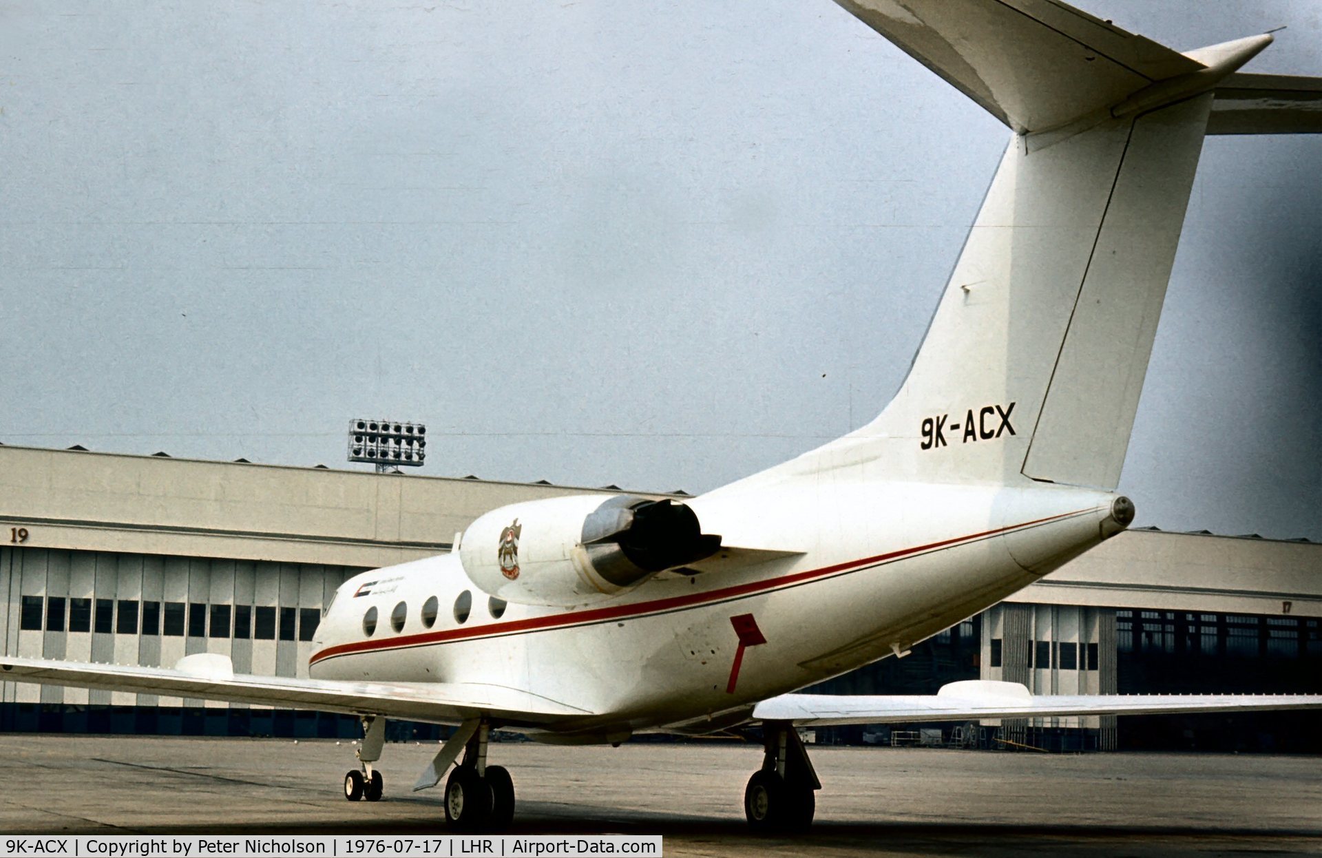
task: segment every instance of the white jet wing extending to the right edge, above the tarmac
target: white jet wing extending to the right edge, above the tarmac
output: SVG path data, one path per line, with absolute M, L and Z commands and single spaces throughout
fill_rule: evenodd
M 781 694 L 758 703 L 758 721 L 801 726 L 886 724 L 1055 715 L 1159 715 L 1322 709 L 1322 694 L 1032 694 L 1018 682 L 969 680 L 932 695 Z

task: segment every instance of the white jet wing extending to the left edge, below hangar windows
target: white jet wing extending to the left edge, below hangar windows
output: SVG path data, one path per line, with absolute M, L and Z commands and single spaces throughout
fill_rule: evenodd
M 592 713 L 518 689 L 476 682 L 342 682 L 235 674 L 229 658 L 201 653 L 175 669 L 0 657 L 0 680 L 196 697 L 457 724 L 488 715 L 509 726 L 563 722 Z

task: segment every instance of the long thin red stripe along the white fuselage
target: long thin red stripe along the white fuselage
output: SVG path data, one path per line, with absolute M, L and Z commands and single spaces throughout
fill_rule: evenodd
M 535 616 L 527 617 L 526 620 L 510 620 L 508 623 L 490 623 L 488 625 L 475 625 L 471 628 L 455 628 L 443 632 L 426 632 L 422 635 L 405 635 L 402 637 L 390 637 L 385 640 L 362 640 L 354 641 L 352 644 L 337 644 L 334 646 L 327 646 L 325 649 L 312 653 L 308 660 L 309 665 L 315 665 L 325 658 L 336 658 L 338 656 L 352 656 L 365 652 L 375 652 L 385 649 L 408 649 L 414 646 L 426 646 L 430 644 L 444 644 L 455 640 L 475 639 L 475 637 L 500 637 L 505 635 L 514 635 L 522 632 L 541 632 L 558 627 L 568 625 L 588 625 L 594 623 L 604 623 L 608 620 L 620 620 L 627 617 L 636 617 L 646 613 L 660 613 L 665 611 L 674 611 L 677 608 L 690 608 L 711 602 L 722 602 L 732 598 L 747 596 L 764 590 L 781 590 L 785 587 L 792 587 L 795 584 L 802 583 L 813 578 L 824 578 L 834 572 L 842 572 L 850 568 L 870 566 L 874 563 L 884 563 L 887 561 L 894 561 L 902 557 L 908 557 L 911 554 L 920 554 L 923 551 L 931 551 L 933 549 L 949 547 L 957 542 L 968 542 L 970 539 L 981 539 L 984 537 L 994 537 L 999 533 L 1006 533 L 1007 530 L 1018 530 L 1021 527 L 1031 527 L 1034 525 L 1046 524 L 1048 521 L 1058 521 L 1060 518 L 1069 518 L 1072 516 L 1080 516 L 1083 513 L 1092 512 L 1091 509 L 1076 509 L 1071 513 L 1060 513 L 1059 516 L 1048 516 L 1046 518 L 1038 518 L 1034 521 L 1026 521 L 1019 525 L 1011 525 L 1009 527 L 998 527 L 995 530 L 984 530 L 982 533 L 974 533 L 965 537 L 956 537 L 953 539 L 943 539 L 940 542 L 931 542 L 928 545 L 920 545 L 912 549 L 900 549 L 899 551 L 888 551 L 886 554 L 878 554 L 875 557 L 866 557 L 861 561 L 849 561 L 845 563 L 837 563 L 834 566 L 824 566 L 822 568 L 812 568 L 802 572 L 792 572 L 789 575 L 781 575 L 780 578 L 768 578 L 767 580 L 752 580 L 743 584 L 734 584 L 731 587 L 722 587 L 719 590 L 710 590 L 706 592 L 686 594 L 683 596 L 670 596 L 668 599 L 653 599 L 652 602 L 637 602 L 633 604 L 611 605 L 607 608 L 588 608 L 584 611 L 572 611 L 570 613 L 555 613 L 549 616 Z

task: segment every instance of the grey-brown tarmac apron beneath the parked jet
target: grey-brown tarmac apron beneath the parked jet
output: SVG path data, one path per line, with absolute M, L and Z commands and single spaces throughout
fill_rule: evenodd
M 444 833 L 438 746 L 387 744 L 379 802 L 344 800 L 349 742 L 0 736 L 13 834 Z M 824 789 L 802 838 L 751 837 L 760 747 L 492 744 L 514 834 L 662 834 L 666 855 L 1322 854 L 1317 756 L 1046 755 L 809 746 Z

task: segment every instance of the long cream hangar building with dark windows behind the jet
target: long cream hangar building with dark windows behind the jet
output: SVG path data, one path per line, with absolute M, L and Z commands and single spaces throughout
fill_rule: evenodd
M 348 576 L 448 551 L 496 506 L 600 490 L 0 446 L 4 652 L 140 665 L 212 652 L 239 673 L 307 676 L 321 612 Z M 1319 620 L 1322 545 L 1132 530 L 911 656 L 818 690 L 932 693 L 981 677 L 1058 694 L 1318 691 Z M 1315 713 L 1128 718 L 1118 732 L 1114 722 L 1006 722 L 998 735 L 1052 747 L 1322 750 Z M 0 730 L 358 727 L 342 715 L 7 682 Z

